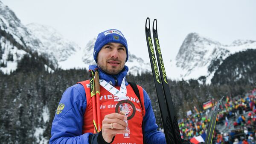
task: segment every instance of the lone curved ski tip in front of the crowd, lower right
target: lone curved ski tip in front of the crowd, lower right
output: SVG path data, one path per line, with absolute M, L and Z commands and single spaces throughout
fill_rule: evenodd
M 224 96 L 218 101 L 217 104 L 215 104 L 215 107 L 213 108 L 211 120 L 207 129 L 207 135 L 204 141 L 204 144 L 212 144 L 212 137 L 215 129 L 216 119 L 218 115 L 218 108 L 220 107 L 221 101 L 224 98 Z

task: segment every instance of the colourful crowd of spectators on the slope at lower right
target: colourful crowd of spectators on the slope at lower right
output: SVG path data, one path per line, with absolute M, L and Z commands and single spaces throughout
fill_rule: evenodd
M 220 105 L 213 144 L 256 144 L 256 89 L 243 96 L 226 97 Z M 197 112 L 179 121 L 182 138 L 190 140 L 207 133 L 209 110 Z

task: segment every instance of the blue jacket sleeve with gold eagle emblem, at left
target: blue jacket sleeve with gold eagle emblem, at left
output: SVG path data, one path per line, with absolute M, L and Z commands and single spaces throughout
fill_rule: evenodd
M 83 116 L 87 101 L 84 87 L 76 84 L 62 95 L 52 121 L 52 137 L 49 144 L 90 144 L 98 134 L 82 134 Z

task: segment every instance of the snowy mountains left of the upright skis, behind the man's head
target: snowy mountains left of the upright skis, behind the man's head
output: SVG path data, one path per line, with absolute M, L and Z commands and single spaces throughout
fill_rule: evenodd
M 0 2 L 0 70 L 10 73 L 24 54 L 37 52 L 54 63 L 54 68 L 88 68 L 96 64 L 93 47 L 96 39 L 90 40 L 85 48 L 66 40 L 49 26 L 29 24 L 24 26 L 15 13 Z M 129 53 L 129 73 L 137 74 L 150 70 L 150 64 Z

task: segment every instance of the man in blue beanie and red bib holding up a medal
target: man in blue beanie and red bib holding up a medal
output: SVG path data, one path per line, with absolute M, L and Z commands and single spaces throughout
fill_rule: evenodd
M 122 82 L 128 72 L 125 62 L 128 60 L 127 41 L 121 31 L 111 29 L 100 33 L 96 39 L 93 52 L 97 65 L 89 69 L 99 69 L 100 81 L 106 85 L 123 88 Z M 92 101 L 88 91 L 88 81 L 80 82 L 68 88 L 59 102 L 55 118 L 52 122 L 50 144 L 165 144 L 165 136 L 157 131 L 151 101 L 143 88 L 138 86 L 140 101 L 134 90 L 125 83 L 125 98 L 136 109 L 134 117 L 115 113 L 118 98 L 111 91 L 100 87 L 100 114 L 102 130 L 93 134 Z M 120 88 L 121 87 L 121 88 Z M 143 126 L 143 127 L 142 127 Z

